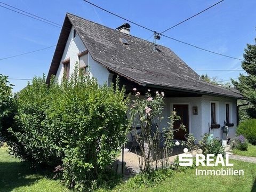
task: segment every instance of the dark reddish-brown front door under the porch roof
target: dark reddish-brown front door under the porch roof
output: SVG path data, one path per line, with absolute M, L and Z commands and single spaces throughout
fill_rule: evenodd
M 185 134 L 189 133 L 188 105 L 173 105 L 173 109 L 176 111 L 176 115 L 180 116 L 180 120 L 174 123 L 173 129 L 179 129 L 181 123 L 186 127 L 186 131 L 179 129 L 174 132 L 174 139 L 186 140 Z

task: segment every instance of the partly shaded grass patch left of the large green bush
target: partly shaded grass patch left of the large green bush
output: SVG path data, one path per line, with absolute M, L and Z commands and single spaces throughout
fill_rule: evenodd
M 69 191 L 60 181 L 46 178 L 49 172 L 35 170 L 0 148 L 0 191 Z

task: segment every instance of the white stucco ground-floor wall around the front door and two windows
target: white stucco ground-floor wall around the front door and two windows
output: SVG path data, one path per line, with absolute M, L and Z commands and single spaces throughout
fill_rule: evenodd
M 143 98 L 143 97 L 141 97 Z M 134 99 L 133 95 L 131 100 Z M 201 135 L 209 133 L 209 123 L 211 121 L 211 101 L 217 102 L 217 123 L 221 126 L 224 125 L 226 119 L 226 103 L 230 104 L 230 123 L 234 123 L 233 127 L 229 127 L 229 137 L 235 137 L 236 131 L 236 99 L 211 97 L 203 95 L 202 97 L 187 97 L 187 98 L 164 98 L 164 119 L 162 120 L 160 127 L 167 126 L 169 122 L 169 116 L 173 111 L 173 105 L 188 105 L 189 107 L 189 133 L 193 133 L 197 142 L 202 139 Z M 193 107 L 197 107 L 198 115 L 193 115 Z M 129 117 L 129 115 L 127 115 Z M 226 140 L 226 134 L 222 133 L 221 127 L 219 129 L 211 130 L 215 138 Z M 127 135 L 129 140 L 130 135 Z

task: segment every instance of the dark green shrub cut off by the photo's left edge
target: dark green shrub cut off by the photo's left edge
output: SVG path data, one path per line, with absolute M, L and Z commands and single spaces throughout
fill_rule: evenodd
M 0 147 L 3 145 L 6 130 L 11 126 L 15 105 L 12 95 L 12 86 L 8 77 L 0 74 Z

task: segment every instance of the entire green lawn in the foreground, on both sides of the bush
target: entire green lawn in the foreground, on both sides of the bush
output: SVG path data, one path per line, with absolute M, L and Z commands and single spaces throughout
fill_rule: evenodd
M 244 170 L 244 176 L 196 176 L 195 169 L 188 169 L 174 173 L 154 188 L 132 189 L 124 182 L 110 191 L 256 191 L 256 164 L 230 162 L 234 163 L 234 170 Z M 45 175 L 45 172 L 31 170 L 27 163 L 9 156 L 6 147 L 0 148 L 0 191 L 69 191 L 60 181 L 48 179 Z

